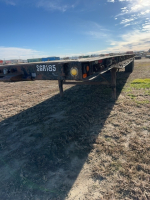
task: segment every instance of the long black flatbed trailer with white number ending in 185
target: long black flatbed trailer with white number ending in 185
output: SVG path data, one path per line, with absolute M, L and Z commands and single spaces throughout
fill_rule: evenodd
M 112 98 L 115 99 L 116 71 L 122 68 L 125 68 L 125 72 L 133 71 L 133 54 L 1 65 L 0 81 L 58 80 L 61 96 L 63 96 L 63 84 L 103 84 L 112 88 Z M 107 71 L 111 72 L 111 80 L 103 77 Z M 98 76 L 104 81 L 93 82 Z

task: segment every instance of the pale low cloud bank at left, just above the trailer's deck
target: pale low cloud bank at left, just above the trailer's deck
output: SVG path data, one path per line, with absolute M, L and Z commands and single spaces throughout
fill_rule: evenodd
M 39 57 L 42 55 L 42 52 L 33 50 L 33 49 L 25 49 L 25 48 L 17 48 L 17 47 L 1 47 L 0 46 L 0 58 L 3 60 L 7 59 L 27 59 L 32 57 Z

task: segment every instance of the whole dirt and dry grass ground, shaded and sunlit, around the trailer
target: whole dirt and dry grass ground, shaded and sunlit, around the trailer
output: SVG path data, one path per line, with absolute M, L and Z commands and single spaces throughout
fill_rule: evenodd
M 150 59 L 118 72 L 116 101 L 106 86 L 60 98 L 57 81 L 0 83 L 0 200 L 149 200 L 146 78 Z

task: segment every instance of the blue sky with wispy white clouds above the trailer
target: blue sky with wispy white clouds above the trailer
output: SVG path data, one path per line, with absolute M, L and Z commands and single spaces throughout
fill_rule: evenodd
M 150 49 L 150 0 L 0 0 L 0 59 Z

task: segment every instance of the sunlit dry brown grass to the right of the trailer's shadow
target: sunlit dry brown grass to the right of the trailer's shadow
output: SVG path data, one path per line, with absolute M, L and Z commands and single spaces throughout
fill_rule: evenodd
M 145 74 L 144 79 L 134 79 L 139 69 L 136 65 L 115 106 L 119 123 L 107 119 L 106 128 L 93 145 L 97 159 L 91 175 L 101 180 L 102 199 L 150 199 L 150 79 L 145 79 Z M 113 125 L 111 131 L 109 123 Z

